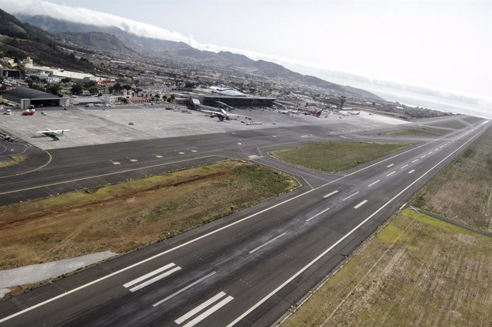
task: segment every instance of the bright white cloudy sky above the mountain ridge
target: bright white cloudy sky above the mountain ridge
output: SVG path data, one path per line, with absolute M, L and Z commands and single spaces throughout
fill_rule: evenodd
M 66 19 L 118 21 L 140 35 L 287 68 L 492 99 L 492 1 L 0 0 L 0 8 L 30 14 L 56 9 Z

